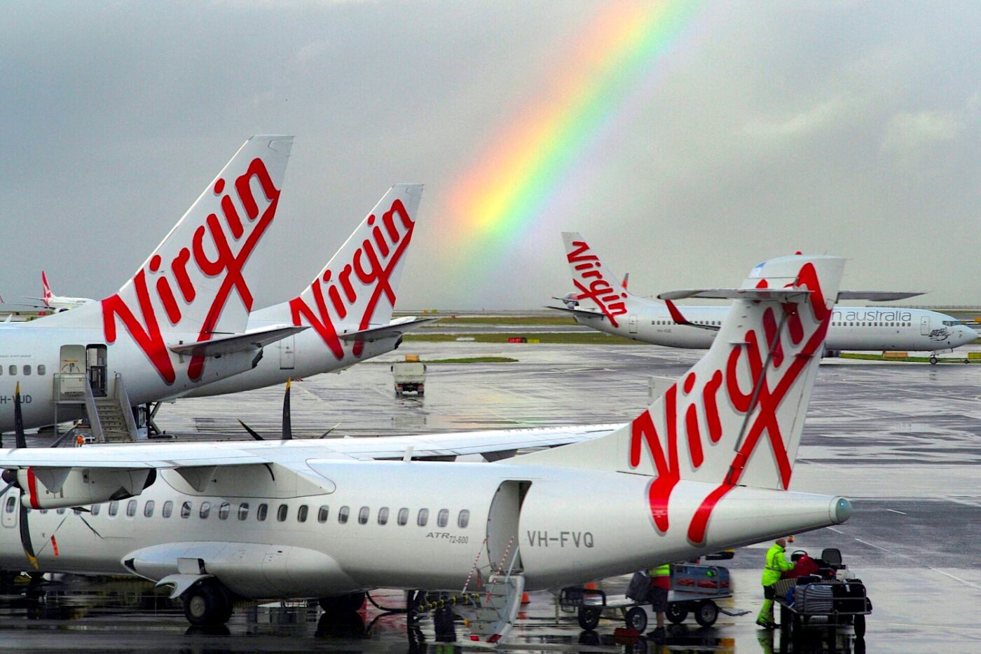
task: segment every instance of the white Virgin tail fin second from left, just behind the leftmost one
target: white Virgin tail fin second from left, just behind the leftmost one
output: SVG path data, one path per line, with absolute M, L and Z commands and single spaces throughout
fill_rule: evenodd
M 310 286 L 289 300 L 284 318 L 313 327 L 337 358 L 344 333 L 387 325 L 422 192 L 421 184 L 391 187 Z M 363 349 L 355 341 L 354 354 Z

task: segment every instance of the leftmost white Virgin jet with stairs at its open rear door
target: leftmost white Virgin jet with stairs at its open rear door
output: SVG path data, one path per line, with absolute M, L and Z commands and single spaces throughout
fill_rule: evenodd
M 0 324 L 0 431 L 15 426 L 18 384 L 23 423 L 39 427 L 79 417 L 86 396 L 131 407 L 244 372 L 305 329 L 247 328 L 246 264 L 276 216 L 291 146 L 247 140 L 115 295 Z

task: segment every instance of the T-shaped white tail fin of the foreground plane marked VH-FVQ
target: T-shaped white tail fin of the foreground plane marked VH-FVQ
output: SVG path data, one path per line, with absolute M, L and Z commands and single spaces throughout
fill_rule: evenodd
M 790 485 L 843 269 L 839 257 L 784 256 L 757 265 L 740 289 L 700 293 L 733 306 L 680 380 L 609 436 L 515 461 L 654 477 L 650 508 L 662 530 L 675 484 L 716 485 L 690 531 L 701 542 L 711 508 L 736 485 Z

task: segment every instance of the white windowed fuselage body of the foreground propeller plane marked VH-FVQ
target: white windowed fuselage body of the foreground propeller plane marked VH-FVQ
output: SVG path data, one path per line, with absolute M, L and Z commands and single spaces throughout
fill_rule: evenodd
M 63 521 L 71 509 L 31 510 L 40 569 L 160 579 L 177 572 L 179 558 L 198 558 L 232 591 L 258 599 L 382 585 L 459 590 L 476 560 L 484 578 L 491 563 L 504 570 L 513 563 L 527 587 L 540 589 L 847 518 L 836 515 L 837 498 L 738 487 L 716 507 L 707 540 L 693 547 L 688 519 L 714 485 L 681 482 L 672 497 L 671 527 L 658 533 L 647 505 L 650 478 L 643 475 L 504 463 L 308 460 L 300 466 L 307 479 L 326 487 L 315 491 L 316 482 L 300 483 L 290 490 L 284 484 L 278 497 L 202 495 L 176 472 L 162 471 L 138 497 L 82 515 L 101 538 L 79 516 Z M 17 490 L 3 498 L 5 570 L 26 567 L 18 501 Z M 210 508 L 202 518 L 205 503 Z

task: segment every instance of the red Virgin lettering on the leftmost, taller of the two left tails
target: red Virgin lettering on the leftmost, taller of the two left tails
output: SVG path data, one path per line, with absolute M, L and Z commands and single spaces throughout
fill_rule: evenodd
M 258 181 L 268 202 L 261 214 L 252 193 L 253 180 Z M 232 290 L 241 298 L 246 310 L 252 308 L 252 293 L 242 277 L 242 270 L 276 215 L 280 190 L 273 184 L 266 164 L 259 158 L 252 160 L 245 173 L 235 179 L 232 186 L 239 206 L 245 210 L 245 216 L 238 215 L 231 193 L 225 192 L 225 180 L 219 179 L 215 183 L 214 192 L 221 197 L 224 221 L 215 213 L 208 215 L 205 225 L 200 225 L 195 230 L 191 244 L 181 247 L 172 261 L 165 262 L 159 254 L 151 257 L 146 267 L 141 268 L 132 278 L 135 307 L 130 306 L 120 294 L 102 300 L 106 341 L 110 344 L 116 342 L 116 321 L 122 321 L 133 341 L 150 359 L 167 384 L 173 384 L 177 375 L 171 353 L 164 343 L 153 300 L 163 306 L 166 319 L 176 327 L 181 323 L 183 313 L 174 284 L 177 285 L 177 292 L 181 294 L 183 302 L 189 306 L 197 298 L 197 289 L 191 277 L 195 269 L 205 278 L 220 281 L 219 289 L 208 307 L 197 335 L 198 342 L 211 339 Z M 153 291 L 150 290 L 151 282 Z M 208 297 L 211 295 L 208 294 Z M 200 379 L 203 367 L 204 357 L 193 356 L 187 367 L 187 377 L 191 380 Z

